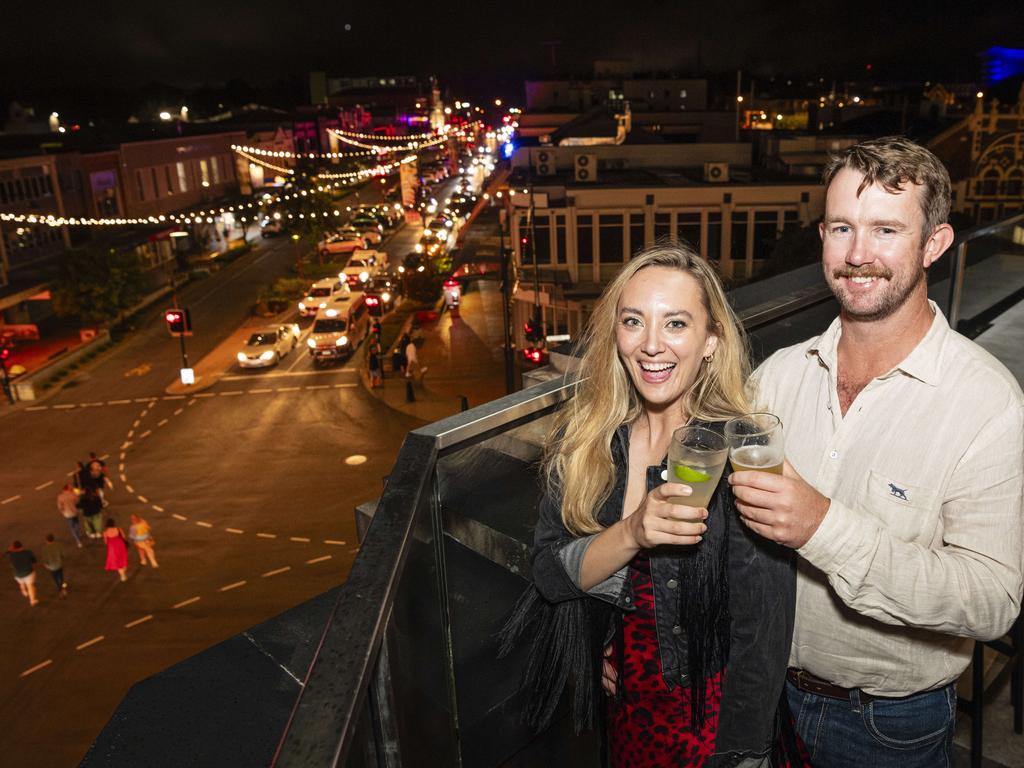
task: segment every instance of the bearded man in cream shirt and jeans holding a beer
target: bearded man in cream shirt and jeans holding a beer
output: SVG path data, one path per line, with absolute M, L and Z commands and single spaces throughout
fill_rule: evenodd
M 785 698 L 813 764 L 946 766 L 973 641 L 1020 612 L 1024 395 L 929 301 L 953 242 L 939 160 L 876 139 L 824 181 L 840 315 L 752 379 L 783 474 L 730 482 L 741 519 L 801 555 Z

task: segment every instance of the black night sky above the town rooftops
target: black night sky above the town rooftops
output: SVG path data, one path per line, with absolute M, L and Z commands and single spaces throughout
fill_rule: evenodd
M 587 74 L 597 58 L 691 74 L 821 73 L 973 80 L 977 52 L 1024 47 L 1024 3 L 729 2 L 339 3 L 330 0 L 11 2 L 0 25 L 0 87 L 181 87 L 334 75 L 441 78 Z M 62 6 L 62 7 L 61 7 Z M 809 10 L 808 10 L 809 9 Z M 551 47 L 559 41 L 552 66 Z

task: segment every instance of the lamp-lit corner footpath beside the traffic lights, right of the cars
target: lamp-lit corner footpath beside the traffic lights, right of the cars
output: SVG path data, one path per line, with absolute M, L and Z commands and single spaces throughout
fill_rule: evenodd
M 421 340 L 417 351 L 420 371 L 411 380 L 414 401 L 408 397 L 408 380 L 391 368 L 390 350 L 383 360 L 383 386 L 370 387 L 361 354 L 359 378 L 367 391 L 383 403 L 426 423 L 457 414 L 463 404 L 474 408 L 503 397 L 502 322 L 500 284 L 469 282 L 463 287 L 457 313 L 445 311 L 436 322 L 421 325 L 413 333 Z

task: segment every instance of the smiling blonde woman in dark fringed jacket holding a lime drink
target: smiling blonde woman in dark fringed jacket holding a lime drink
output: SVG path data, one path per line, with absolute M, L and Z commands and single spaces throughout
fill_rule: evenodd
M 768 766 L 793 632 L 794 559 L 739 524 L 726 467 L 708 508 L 670 498 L 673 432 L 750 410 L 746 343 L 713 268 L 655 245 L 609 284 L 545 457 L 534 585 L 504 631 L 529 646 L 527 721 L 563 690 L 614 768 Z M 570 684 L 570 686 L 569 686 Z

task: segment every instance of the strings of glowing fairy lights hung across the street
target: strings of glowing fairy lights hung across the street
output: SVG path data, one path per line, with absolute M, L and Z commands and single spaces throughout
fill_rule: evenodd
M 474 121 L 465 126 L 461 126 L 456 130 L 452 130 L 450 126 L 444 126 L 441 133 L 423 133 L 415 134 L 413 136 L 380 136 L 378 134 L 360 134 L 353 131 L 340 131 L 335 129 L 330 129 L 330 131 L 338 137 L 338 139 L 345 141 L 350 144 L 354 144 L 361 148 L 367 150 L 367 152 L 360 153 L 307 153 L 307 154 L 297 154 L 284 151 L 270 151 L 270 150 L 260 150 L 259 147 L 246 146 L 241 144 L 231 144 L 231 150 L 237 153 L 240 157 L 246 159 L 250 163 L 263 166 L 276 173 L 283 175 L 294 176 L 295 171 L 291 168 L 286 168 L 284 166 L 279 166 L 264 158 L 309 158 L 309 159 L 342 159 L 342 158 L 355 158 L 355 157 L 380 157 L 381 155 L 393 154 L 393 153 L 407 153 L 407 156 L 401 160 L 392 160 L 386 164 L 380 164 L 373 168 L 362 168 L 355 171 L 346 171 L 342 173 L 319 173 L 315 175 L 317 181 L 328 180 L 326 184 L 319 184 L 315 187 L 316 191 L 329 191 L 331 187 L 340 188 L 344 184 L 354 183 L 360 178 L 368 178 L 372 176 L 386 176 L 393 172 L 399 165 L 410 163 L 416 160 L 415 153 L 428 148 L 430 146 L 435 146 L 437 144 L 447 141 L 453 136 L 465 136 L 466 132 L 473 128 L 475 125 L 479 124 L 480 121 Z M 357 138 L 370 138 L 372 140 L 403 140 L 407 143 L 382 146 L 382 145 L 367 145 L 359 143 Z M 424 139 L 422 141 L 416 141 L 415 139 Z M 411 140 L 414 139 L 414 140 Z M 408 153 L 414 153 L 409 155 Z M 289 200 L 298 199 L 300 197 L 307 197 L 309 190 L 301 189 L 288 195 L 264 195 L 263 198 L 258 203 L 240 203 L 237 205 L 223 206 L 219 208 L 210 208 L 207 210 L 199 211 L 185 211 L 182 213 L 170 213 L 170 214 L 160 214 L 157 216 L 119 216 L 119 217 L 88 217 L 88 216 L 55 216 L 53 214 L 34 214 L 34 213 L 4 213 L 0 212 L 0 221 L 8 221 L 17 224 L 43 224 L 46 226 L 56 227 L 56 226 L 133 226 L 133 225 L 161 225 L 161 224 L 193 224 L 193 223 L 213 223 L 215 218 L 225 214 L 240 214 L 242 221 L 247 221 L 247 211 L 249 209 L 258 208 L 262 205 L 272 205 L 274 203 L 287 202 Z M 338 209 L 324 210 L 319 212 L 323 217 L 328 216 L 340 216 L 341 211 Z M 310 218 L 316 218 L 316 212 L 310 212 Z M 288 214 L 288 218 L 293 218 L 293 214 Z M 298 218 L 304 218 L 305 214 L 298 214 Z

